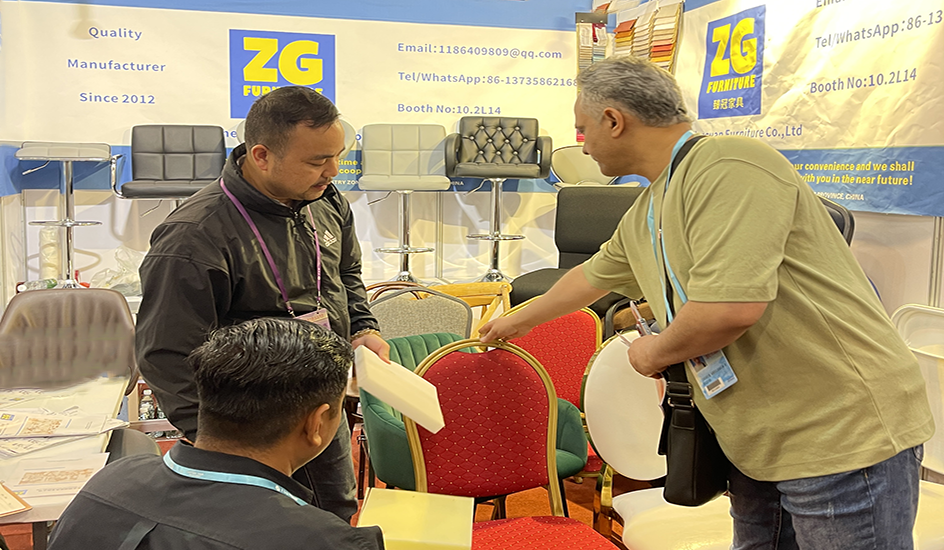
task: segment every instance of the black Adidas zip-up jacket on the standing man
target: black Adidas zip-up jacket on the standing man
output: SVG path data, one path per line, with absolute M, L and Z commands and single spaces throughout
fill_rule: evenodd
M 334 185 L 315 201 L 289 208 L 242 177 L 233 150 L 221 180 L 259 228 L 296 315 L 316 308 L 315 240 L 322 254 L 321 295 L 331 328 L 342 338 L 377 329 L 361 280 L 361 250 L 350 204 Z M 210 330 L 258 317 L 288 317 L 262 247 L 217 181 L 171 213 L 151 235 L 141 264 L 144 294 L 135 352 L 141 374 L 174 426 L 191 440 L 197 431 L 197 391 L 186 358 Z

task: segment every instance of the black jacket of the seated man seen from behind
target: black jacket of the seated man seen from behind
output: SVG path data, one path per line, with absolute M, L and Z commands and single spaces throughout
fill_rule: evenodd
M 249 475 L 311 502 L 312 492 L 244 456 L 178 443 L 187 468 Z M 351 527 L 271 489 L 193 479 L 161 457 L 123 458 L 95 474 L 56 523 L 51 550 L 383 550 L 379 527 Z

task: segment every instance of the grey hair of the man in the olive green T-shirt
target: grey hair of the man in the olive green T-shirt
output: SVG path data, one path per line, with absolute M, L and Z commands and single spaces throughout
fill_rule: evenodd
M 577 86 L 581 104 L 588 113 L 599 114 L 606 107 L 618 107 L 655 128 L 692 121 L 675 78 L 645 59 L 633 56 L 604 59 L 581 71 Z

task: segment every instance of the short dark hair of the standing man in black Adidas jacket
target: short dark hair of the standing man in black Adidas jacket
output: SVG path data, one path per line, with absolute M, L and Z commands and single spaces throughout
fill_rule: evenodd
M 281 154 L 298 124 L 321 128 L 341 116 L 331 100 L 311 88 L 276 88 L 252 104 L 246 115 L 246 148 L 265 145 Z

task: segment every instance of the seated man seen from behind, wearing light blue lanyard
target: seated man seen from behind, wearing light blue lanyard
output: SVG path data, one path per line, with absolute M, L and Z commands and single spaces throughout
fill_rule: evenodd
M 351 346 L 296 319 L 222 328 L 190 355 L 196 444 L 96 474 L 52 533 L 51 550 L 382 549 L 377 527 L 311 506 L 295 470 L 331 442 Z

